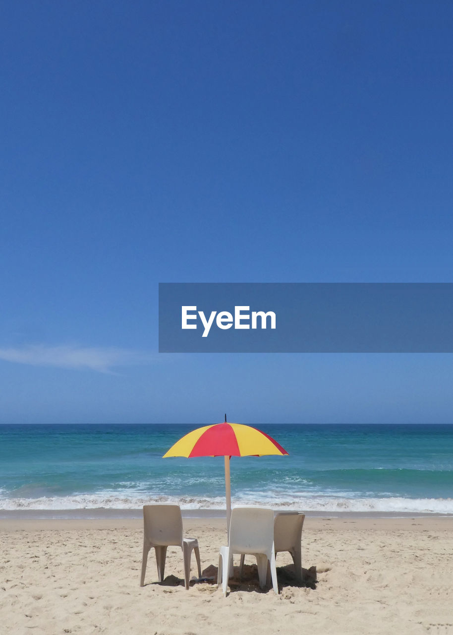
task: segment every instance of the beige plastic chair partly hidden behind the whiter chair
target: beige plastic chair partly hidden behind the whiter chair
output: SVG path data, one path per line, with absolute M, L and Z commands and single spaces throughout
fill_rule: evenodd
M 305 514 L 301 512 L 277 512 L 273 521 L 274 552 L 289 551 L 294 563 L 294 573 L 298 582 L 302 582 L 301 538 Z M 244 556 L 240 556 L 239 575 L 242 575 Z

